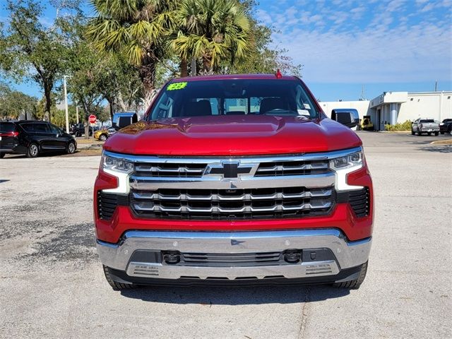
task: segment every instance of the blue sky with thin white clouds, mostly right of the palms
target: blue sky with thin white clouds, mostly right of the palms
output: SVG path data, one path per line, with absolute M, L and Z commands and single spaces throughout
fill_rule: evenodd
M 43 23 L 54 17 L 47 7 Z M 368 99 L 434 90 L 435 81 L 452 90 L 452 0 L 261 0 L 255 13 L 278 31 L 274 47 L 304 65 L 303 79 L 321 101 L 357 100 L 363 85 Z M 16 87 L 40 96 L 32 83 Z

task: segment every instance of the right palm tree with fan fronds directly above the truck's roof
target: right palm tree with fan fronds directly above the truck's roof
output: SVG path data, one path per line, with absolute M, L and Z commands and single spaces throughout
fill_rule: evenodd
M 233 64 L 246 56 L 250 22 L 237 1 L 184 0 L 175 17 L 178 27 L 169 47 L 182 61 L 182 76 L 193 57 L 202 59 L 203 73 L 212 73 L 222 61 Z

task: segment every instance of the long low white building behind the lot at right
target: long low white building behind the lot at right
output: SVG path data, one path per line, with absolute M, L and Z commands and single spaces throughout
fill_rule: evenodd
M 335 108 L 355 108 L 359 117 L 370 115 L 375 129 L 385 124 L 403 123 L 417 118 L 442 121 L 452 118 L 452 91 L 442 92 L 384 92 L 373 100 L 319 102 L 323 112 L 331 117 Z

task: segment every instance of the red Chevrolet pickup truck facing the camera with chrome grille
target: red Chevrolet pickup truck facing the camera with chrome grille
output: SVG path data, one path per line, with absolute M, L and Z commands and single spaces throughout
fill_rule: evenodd
M 362 142 L 293 76 L 169 81 L 107 140 L 97 253 L 115 289 L 333 284 L 367 272 L 372 182 Z

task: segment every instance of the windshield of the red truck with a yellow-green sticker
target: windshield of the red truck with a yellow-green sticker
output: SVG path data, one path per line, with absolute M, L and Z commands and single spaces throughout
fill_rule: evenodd
M 300 81 L 228 79 L 169 83 L 148 119 L 256 114 L 319 117 Z

